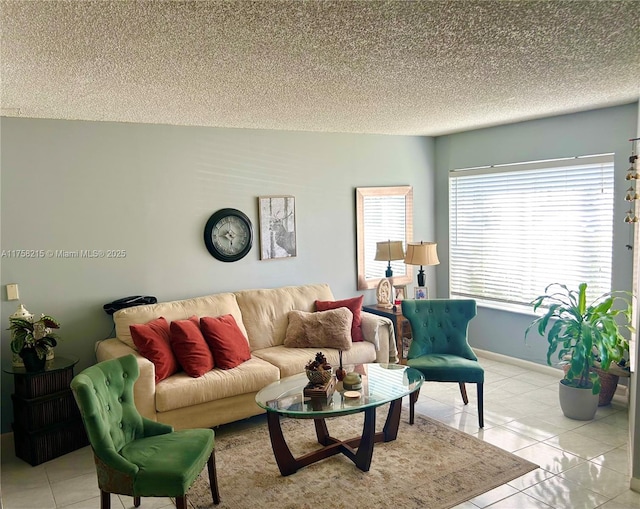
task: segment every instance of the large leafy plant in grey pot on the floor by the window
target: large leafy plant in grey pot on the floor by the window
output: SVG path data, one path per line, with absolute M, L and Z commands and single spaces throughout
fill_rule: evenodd
M 525 338 L 533 328 L 541 336 L 546 334 L 547 364 L 557 354 L 560 364 L 566 365 L 560 381 L 560 406 L 567 417 L 593 419 L 600 393 L 594 366 L 599 364 L 606 372 L 629 351 L 629 342 L 620 332 L 621 328 L 633 330 L 629 296 L 628 292 L 607 292 L 587 303 L 586 283 L 578 291 L 553 283 L 533 300 L 534 311 L 540 307 L 546 311 L 527 327 Z

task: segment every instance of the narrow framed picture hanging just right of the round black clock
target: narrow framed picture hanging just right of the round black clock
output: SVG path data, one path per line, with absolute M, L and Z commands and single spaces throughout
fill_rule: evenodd
M 260 259 L 296 256 L 296 199 L 293 196 L 259 196 Z

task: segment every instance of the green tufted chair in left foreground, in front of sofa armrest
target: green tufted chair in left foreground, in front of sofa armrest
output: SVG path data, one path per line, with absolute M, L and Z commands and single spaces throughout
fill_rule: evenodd
M 111 493 L 133 497 L 175 497 L 186 508 L 186 492 L 209 468 L 211 495 L 220 503 L 211 429 L 174 431 L 142 417 L 133 401 L 138 379 L 133 355 L 100 362 L 71 381 L 93 449 L 101 507 L 109 509 Z

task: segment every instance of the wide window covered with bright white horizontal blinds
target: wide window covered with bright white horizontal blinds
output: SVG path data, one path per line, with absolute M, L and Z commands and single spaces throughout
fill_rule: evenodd
M 529 305 L 551 283 L 611 290 L 613 155 L 449 173 L 453 297 Z

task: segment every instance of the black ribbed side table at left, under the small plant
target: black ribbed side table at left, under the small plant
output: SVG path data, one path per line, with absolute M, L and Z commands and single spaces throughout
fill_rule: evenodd
M 69 387 L 78 359 L 55 357 L 43 371 L 2 366 L 13 375 L 13 440 L 18 458 L 35 466 L 89 444 Z

